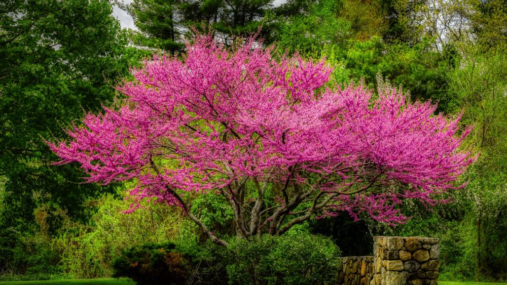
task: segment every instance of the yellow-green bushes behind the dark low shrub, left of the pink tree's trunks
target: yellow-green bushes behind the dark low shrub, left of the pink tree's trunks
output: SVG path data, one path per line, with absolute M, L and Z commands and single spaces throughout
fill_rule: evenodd
M 163 205 L 144 205 L 131 214 L 128 201 L 105 196 L 95 201 L 100 208 L 92 224 L 69 225 L 54 240 L 65 276 L 96 278 L 111 276 L 111 261 L 122 250 L 146 242 L 172 240 L 183 246 L 197 243 L 195 226 L 180 211 Z

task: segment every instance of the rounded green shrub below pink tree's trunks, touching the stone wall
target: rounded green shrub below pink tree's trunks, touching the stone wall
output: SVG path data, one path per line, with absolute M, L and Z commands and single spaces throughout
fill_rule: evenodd
M 217 283 L 227 274 L 231 284 L 321 284 L 340 268 L 341 252 L 329 238 L 303 232 L 238 238 L 227 249 L 208 243 L 201 251 L 200 276 Z

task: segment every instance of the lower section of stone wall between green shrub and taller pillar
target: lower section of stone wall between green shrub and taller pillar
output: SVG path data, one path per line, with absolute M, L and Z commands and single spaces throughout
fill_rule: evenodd
M 375 268 L 373 256 L 349 256 L 340 258 L 342 269 L 338 283 L 344 285 L 370 285 Z

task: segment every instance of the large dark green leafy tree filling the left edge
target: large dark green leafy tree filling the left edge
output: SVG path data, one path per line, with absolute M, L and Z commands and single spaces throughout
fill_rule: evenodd
M 113 100 L 128 58 L 111 12 L 105 0 L 0 3 L 1 227 L 33 229 L 38 208 L 50 229 L 62 216 L 85 220 L 84 199 L 112 190 L 80 184 L 77 165 L 47 166 L 55 156 L 43 142 Z

